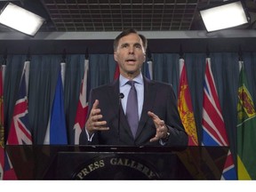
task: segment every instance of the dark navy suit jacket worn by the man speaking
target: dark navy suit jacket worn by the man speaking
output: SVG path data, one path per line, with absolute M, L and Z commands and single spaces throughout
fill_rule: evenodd
M 170 130 L 170 137 L 166 146 L 187 146 L 188 134 L 180 120 L 177 108 L 177 100 L 171 84 L 144 80 L 144 103 L 140 117 L 140 123 L 135 139 L 132 137 L 129 124 L 125 118 L 124 110 L 119 99 L 119 79 L 111 84 L 102 85 L 93 89 L 89 98 L 90 114 L 92 104 L 95 100 L 100 101 L 102 120 L 108 122 L 108 131 L 95 132 L 92 141 L 87 140 L 86 132 L 83 130 L 80 136 L 81 145 L 122 145 L 122 146 L 160 146 L 159 141 L 149 142 L 156 135 L 156 127 L 148 116 L 148 110 L 152 111 L 164 120 Z M 118 117 L 119 116 L 119 117 Z M 118 124 L 118 119 L 120 123 Z

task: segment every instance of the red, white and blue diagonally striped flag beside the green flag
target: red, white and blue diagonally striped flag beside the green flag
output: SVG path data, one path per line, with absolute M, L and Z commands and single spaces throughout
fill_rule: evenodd
M 212 76 L 210 58 L 206 58 L 204 73 L 202 127 L 202 144 L 204 146 L 229 146 L 219 96 Z M 221 180 L 236 180 L 236 169 L 230 150 L 228 151 L 228 157 L 222 171 Z

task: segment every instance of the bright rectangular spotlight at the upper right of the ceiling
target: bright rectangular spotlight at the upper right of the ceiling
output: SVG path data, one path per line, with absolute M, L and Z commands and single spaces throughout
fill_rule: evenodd
M 208 32 L 244 25 L 250 20 L 241 1 L 225 1 L 199 12 Z

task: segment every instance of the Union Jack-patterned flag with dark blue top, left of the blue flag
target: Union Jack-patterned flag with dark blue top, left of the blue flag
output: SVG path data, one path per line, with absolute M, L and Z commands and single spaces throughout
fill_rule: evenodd
M 31 145 L 32 136 L 29 130 L 28 122 L 28 97 L 26 86 L 26 68 L 28 62 L 24 63 L 23 72 L 20 79 L 20 88 L 18 92 L 18 99 L 15 102 L 12 123 L 8 134 L 8 145 Z

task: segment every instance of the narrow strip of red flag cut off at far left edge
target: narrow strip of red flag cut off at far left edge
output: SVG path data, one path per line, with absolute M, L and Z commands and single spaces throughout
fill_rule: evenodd
M 4 178 L 4 79 L 0 68 L 0 180 Z

